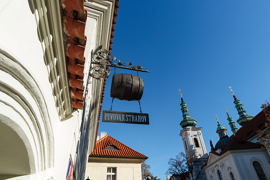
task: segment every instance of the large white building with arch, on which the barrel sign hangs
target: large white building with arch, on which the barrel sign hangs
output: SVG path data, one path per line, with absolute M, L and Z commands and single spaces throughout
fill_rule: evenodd
M 89 77 L 90 52 L 111 50 L 117 9 L 115 0 L 0 2 L 0 179 L 84 179 L 105 88 Z

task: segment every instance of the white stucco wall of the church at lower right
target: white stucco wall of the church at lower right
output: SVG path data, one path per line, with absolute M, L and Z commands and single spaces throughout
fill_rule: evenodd
M 262 149 L 246 149 L 227 151 L 221 156 L 209 155 L 208 165 L 204 167 L 208 180 L 218 179 L 217 170 L 220 170 L 223 179 L 230 179 L 230 172 L 235 179 L 258 179 L 253 167 L 253 161 L 262 166 L 266 177 L 270 177 L 269 156 Z

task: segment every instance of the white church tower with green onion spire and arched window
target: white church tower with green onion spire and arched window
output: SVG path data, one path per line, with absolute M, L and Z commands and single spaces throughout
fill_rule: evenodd
M 180 89 L 179 89 L 180 91 Z M 206 147 L 203 141 L 202 135 L 202 127 L 196 127 L 197 121 L 190 117 L 188 112 L 187 103 L 184 102 L 182 94 L 181 96 L 181 104 L 180 106 L 182 111 L 183 120 L 180 123 L 180 126 L 183 128 L 180 132 L 180 136 L 182 137 L 184 149 L 187 154 L 189 151 L 195 151 L 195 155 L 197 158 L 204 159 L 208 157 Z

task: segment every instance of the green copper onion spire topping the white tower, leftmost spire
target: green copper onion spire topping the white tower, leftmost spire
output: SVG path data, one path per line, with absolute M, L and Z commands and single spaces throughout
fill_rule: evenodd
M 182 94 L 181 94 L 181 89 L 178 90 L 180 92 L 180 96 L 181 96 L 181 104 L 180 106 L 181 111 L 182 111 L 182 116 L 183 116 L 183 120 L 180 123 L 180 126 L 183 128 L 187 128 L 187 127 L 191 127 L 191 126 L 196 126 L 197 121 L 195 119 L 192 119 L 190 117 L 190 114 L 188 112 L 188 108 L 187 108 L 187 103 L 184 102 Z

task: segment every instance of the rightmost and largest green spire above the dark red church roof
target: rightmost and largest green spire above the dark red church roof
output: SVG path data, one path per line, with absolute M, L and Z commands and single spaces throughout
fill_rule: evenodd
M 233 93 L 232 87 L 229 86 L 229 88 L 231 89 L 231 92 Z M 243 107 L 243 104 L 241 104 L 240 100 L 237 100 L 234 94 L 233 94 L 233 97 L 234 97 L 233 103 L 235 104 L 235 108 L 237 109 L 237 112 L 239 114 L 239 119 L 237 119 L 236 122 L 240 124 L 241 126 L 243 126 L 245 123 L 249 122 L 253 118 L 253 116 L 247 114 L 247 112 L 245 111 Z

